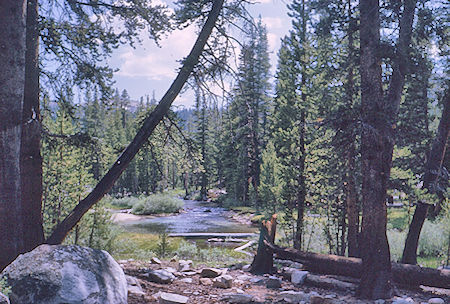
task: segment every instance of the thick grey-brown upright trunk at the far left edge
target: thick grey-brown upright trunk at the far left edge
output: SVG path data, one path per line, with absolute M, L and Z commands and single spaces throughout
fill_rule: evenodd
M 0 1 L 0 271 L 27 249 L 21 180 L 26 1 Z

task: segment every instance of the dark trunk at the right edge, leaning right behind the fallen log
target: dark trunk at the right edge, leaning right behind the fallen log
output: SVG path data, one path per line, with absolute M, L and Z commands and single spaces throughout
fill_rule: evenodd
M 442 111 L 436 138 L 428 154 L 423 177 L 423 187 L 429 193 L 436 193 L 437 180 L 439 172 L 442 169 L 447 139 L 450 133 L 450 89 L 447 89 L 443 101 L 444 110 Z M 420 231 L 427 217 L 429 206 L 428 204 L 418 202 L 416 210 L 414 210 L 413 219 L 409 225 L 409 231 L 405 241 L 405 248 L 403 249 L 402 263 L 417 264 L 417 246 L 419 245 Z

